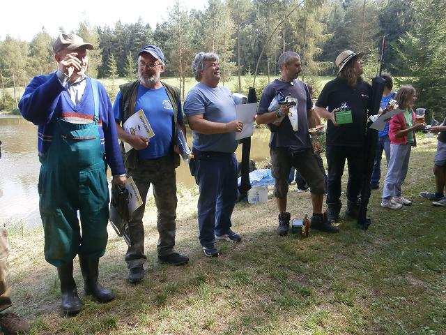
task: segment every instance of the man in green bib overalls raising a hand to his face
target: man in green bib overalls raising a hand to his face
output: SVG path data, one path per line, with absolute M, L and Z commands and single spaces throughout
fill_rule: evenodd
M 68 314 L 82 307 L 72 276 L 76 255 L 86 294 L 100 302 L 115 297 L 98 284 L 98 265 L 108 239 L 107 163 L 114 184 L 125 184 L 125 168 L 107 91 L 85 75 L 92 49 L 75 34 L 60 34 L 53 44 L 58 70 L 33 77 L 19 103 L 23 117 L 38 125 L 45 260 L 57 267 Z

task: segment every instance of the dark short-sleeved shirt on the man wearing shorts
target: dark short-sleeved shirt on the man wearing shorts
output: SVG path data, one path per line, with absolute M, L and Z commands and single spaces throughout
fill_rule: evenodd
M 273 98 L 280 92 L 282 96 L 291 96 L 298 100 L 298 130 L 295 131 L 291 126 L 290 119 L 284 117 L 279 126 L 272 126 L 270 137 L 271 149 L 285 147 L 293 151 L 300 151 L 312 147 L 308 133 L 307 111 L 312 109 L 312 97 L 307 93 L 305 82 L 301 80 L 293 80 L 293 82 L 284 82 L 282 80 L 274 80 L 270 82 L 263 90 L 259 103 L 257 114 L 271 112 L 268 110 Z

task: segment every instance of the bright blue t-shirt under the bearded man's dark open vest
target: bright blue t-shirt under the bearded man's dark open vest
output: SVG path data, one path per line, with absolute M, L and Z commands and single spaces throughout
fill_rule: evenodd
M 121 122 L 123 117 L 123 112 L 119 108 L 121 98 L 122 94 L 120 91 L 113 104 L 116 122 Z M 148 147 L 138 150 L 138 157 L 141 159 L 154 159 L 171 154 L 174 133 L 172 121 L 174 108 L 169 100 L 169 96 L 167 96 L 166 89 L 164 87 L 148 89 L 139 84 L 134 112 L 138 110 L 144 111 L 148 123 L 151 124 L 153 133 L 155 133 L 155 136 L 148 142 Z M 183 123 L 183 112 L 181 111 L 180 103 L 178 103 L 178 123 Z

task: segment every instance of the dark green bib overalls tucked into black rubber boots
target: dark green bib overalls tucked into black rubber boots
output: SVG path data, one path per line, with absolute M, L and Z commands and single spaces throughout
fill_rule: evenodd
M 108 238 L 109 190 L 96 122 L 54 120 L 52 144 L 41 161 L 38 191 L 45 260 L 60 267 L 76 254 L 100 258 Z

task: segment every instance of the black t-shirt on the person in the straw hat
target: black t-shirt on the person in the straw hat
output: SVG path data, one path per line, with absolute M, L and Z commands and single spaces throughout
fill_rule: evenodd
M 334 126 L 332 121 L 327 122 L 327 145 L 340 145 L 347 147 L 361 147 L 364 137 L 367 110 L 371 110 L 371 85 L 360 81 L 355 88 L 348 86 L 346 80 L 336 77 L 330 80 L 321 91 L 317 107 L 326 108 L 332 112 L 334 108 L 346 103 L 351 107 L 353 122 Z

